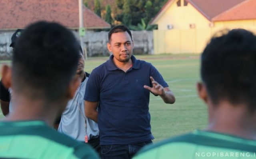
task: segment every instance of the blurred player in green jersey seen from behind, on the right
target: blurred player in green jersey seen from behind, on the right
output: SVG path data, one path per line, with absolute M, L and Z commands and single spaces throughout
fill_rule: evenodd
M 145 147 L 134 159 L 256 158 L 256 36 L 223 33 L 201 55 L 197 90 L 208 106 L 206 129 Z

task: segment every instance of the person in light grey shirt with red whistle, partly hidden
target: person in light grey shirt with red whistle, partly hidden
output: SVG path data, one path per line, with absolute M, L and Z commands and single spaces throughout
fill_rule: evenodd
M 82 81 L 74 98 L 68 101 L 66 109 L 55 124 L 59 123 L 57 129 L 60 133 L 65 133 L 82 143 L 90 144 L 100 155 L 98 124 L 84 115 L 84 92 L 90 74 L 84 72 L 84 56 L 81 46 L 79 46 L 79 62 L 76 75 Z

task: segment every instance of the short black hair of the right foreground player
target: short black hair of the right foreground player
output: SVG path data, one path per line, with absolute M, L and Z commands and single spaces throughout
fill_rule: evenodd
M 244 29 L 218 32 L 202 53 L 200 71 L 215 104 L 227 99 L 255 110 L 256 36 L 252 32 Z

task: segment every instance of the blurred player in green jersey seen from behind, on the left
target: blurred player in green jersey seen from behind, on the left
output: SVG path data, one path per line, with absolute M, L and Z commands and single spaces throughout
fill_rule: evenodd
M 22 32 L 12 68 L 2 68 L 13 111 L 0 121 L 0 158 L 98 158 L 89 145 L 51 127 L 81 82 L 78 46 L 72 32 L 54 22 L 36 22 Z

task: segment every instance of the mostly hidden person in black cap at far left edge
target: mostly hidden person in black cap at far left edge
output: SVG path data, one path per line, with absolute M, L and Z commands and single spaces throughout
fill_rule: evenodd
M 11 38 L 11 44 L 10 47 L 14 49 L 15 42 L 19 38 L 20 34 L 22 33 L 23 29 L 17 29 L 13 34 Z M 1 104 L 1 110 L 4 116 L 9 114 L 10 111 L 10 88 L 4 87 L 2 84 L 2 80 L 0 80 L 0 104 Z

